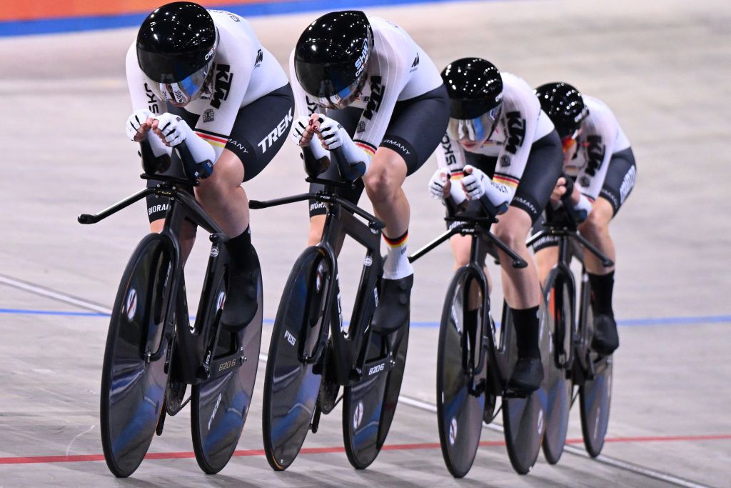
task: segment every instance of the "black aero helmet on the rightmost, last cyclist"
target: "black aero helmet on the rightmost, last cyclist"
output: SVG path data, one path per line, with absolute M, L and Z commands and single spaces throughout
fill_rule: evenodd
M 588 115 L 580 91 L 568 83 L 545 83 L 536 89 L 536 97 L 562 139 L 572 136 Z

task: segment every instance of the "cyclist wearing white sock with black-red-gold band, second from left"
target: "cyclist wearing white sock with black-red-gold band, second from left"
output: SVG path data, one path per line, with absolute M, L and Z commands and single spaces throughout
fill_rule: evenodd
M 303 157 L 327 157 L 341 147 L 363 172 L 363 188 L 386 228 L 388 252 L 371 326 L 388 333 L 408 317 L 413 269 L 406 257 L 409 201 L 401 189 L 431 155 L 449 118 L 447 93 L 429 56 L 401 27 L 358 11 L 332 12 L 300 36 L 289 60 L 298 118 L 292 138 Z M 317 134 L 317 138 L 313 135 Z M 336 165 L 323 174 L 333 179 Z M 311 185 L 317 191 L 319 185 Z M 326 209 L 310 203 L 310 244 L 322 233 Z

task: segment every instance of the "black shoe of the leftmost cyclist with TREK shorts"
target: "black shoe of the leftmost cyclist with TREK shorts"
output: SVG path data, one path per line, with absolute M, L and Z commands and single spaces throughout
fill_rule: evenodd
M 221 326 L 238 332 L 249 325 L 257 315 L 257 288 L 259 285 L 259 266 L 248 271 L 230 274 L 226 288 L 226 302 L 221 314 Z

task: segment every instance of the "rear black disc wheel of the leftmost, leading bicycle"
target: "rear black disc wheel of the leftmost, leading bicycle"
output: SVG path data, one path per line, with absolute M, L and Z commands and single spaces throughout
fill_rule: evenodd
M 226 299 L 223 274 L 209 293 L 207 327 L 219 329 Z M 219 331 L 211 361 L 211 377 L 193 386 L 191 427 L 200 468 L 218 473 L 231 459 L 251 407 L 262 341 L 262 280 L 257 285 L 257 314 L 242 331 Z

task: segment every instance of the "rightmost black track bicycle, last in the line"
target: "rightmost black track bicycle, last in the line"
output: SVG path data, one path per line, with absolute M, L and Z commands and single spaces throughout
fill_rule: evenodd
M 572 185 L 568 184 L 565 195 L 570 195 L 571 189 Z M 612 390 L 612 356 L 591 350 L 594 314 L 583 253 L 591 252 L 602 261 L 603 266 L 614 266 L 614 263 L 578 233 L 575 212 L 565 199 L 564 203 L 560 217 L 547 209 L 548 218 L 544 222 L 544 229 L 531 236 L 527 243 L 532 246 L 545 236 L 558 239 L 558 262 L 551 269 L 543 287 L 551 324 L 552 362 L 545 380 L 548 408 L 543 454 L 550 464 L 558 462 L 564 450 L 569 410 L 577 398 L 584 446 L 591 457 L 599 456 L 609 423 Z M 570 268 L 573 258 L 581 263 L 578 309 L 577 287 Z

